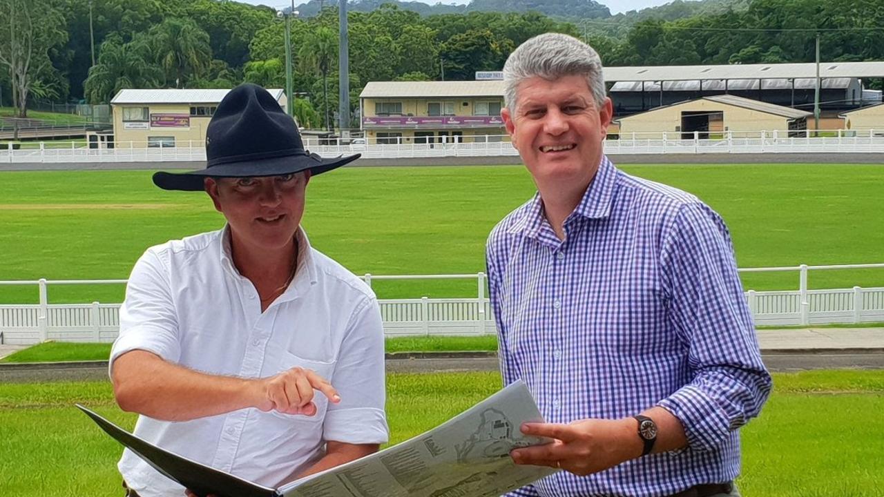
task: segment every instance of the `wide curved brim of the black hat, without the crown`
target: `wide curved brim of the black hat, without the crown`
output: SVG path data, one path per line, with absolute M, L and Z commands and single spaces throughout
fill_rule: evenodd
M 161 187 L 164 190 L 202 192 L 206 178 L 260 178 L 308 170 L 310 176 L 316 176 L 316 174 L 322 174 L 323 172 L 337 169 L 344 164 L 349 164 L 359 157 L 362 157 L 362 154 L 332 158 L 323 158 L 316 154 L 271 157 L 248 161 L 248 163 L 218 164 L 199 171 L 160 171 L 154 173 L 153 180 L 157 187 Z

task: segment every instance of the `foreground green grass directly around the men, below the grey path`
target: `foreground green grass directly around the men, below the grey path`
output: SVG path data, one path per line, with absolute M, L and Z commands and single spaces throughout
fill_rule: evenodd
M 746 497 L 874 497 L 884 481 L 884 371 L 774 374 L 774 392 L 743 428 Z M 469 408 L 497 373 L 387 376 L 392 443 Z M 0 385 L 0 495 L 115 497 L 118 444 L 73 408 L 80 402 L 131 429 L 108 382 Z

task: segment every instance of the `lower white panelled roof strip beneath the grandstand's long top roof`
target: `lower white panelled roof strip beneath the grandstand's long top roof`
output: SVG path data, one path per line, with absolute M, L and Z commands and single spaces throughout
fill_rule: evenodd
M 846 89 L 850 88 L 850 82 L 853 78 L 826 78 L 819 81 L 820 87 L 825 89 Z M 703 91 L 724 91 L 725 80 L 702 80 Z M 734 90 L 757 90 L 758 82 L 761 82 L 761 89 L 765 90 L 790 90 L 792 89 L 792 80 L 727 80 L 728 91 Z M 654 92 L 660 90 L 659 81 L 617 81 L 611 87 L 611 93 L 622 92 L 640 92 L 644 83 L 645 92 Z M 817 86 L 816 78 L 796 78 L 795 89 L 814 89 Z M 700 80 L 683 80 L 683 81 L 663 81 L 663 91 L 699 91 Z

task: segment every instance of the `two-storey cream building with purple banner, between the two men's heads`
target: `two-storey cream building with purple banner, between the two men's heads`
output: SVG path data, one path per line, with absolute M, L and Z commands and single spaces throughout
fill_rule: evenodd
M 509 141 L 503 81 L 372 81 L 359 96 L 362 131 L 375 143 Z

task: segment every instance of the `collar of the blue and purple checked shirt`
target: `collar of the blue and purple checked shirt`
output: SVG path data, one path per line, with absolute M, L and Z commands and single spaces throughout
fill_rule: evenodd
M 598 172 L 586 188 L 586 193 L 575 210 L 565 220 L 567 224 L 575 216 L 583 218 L 607 218 L 611 214 L 613 203 L 613 190 L 617 180 L 617 168 L 602 156 L 598 164 Z M 509 233 L 522 232 L 530 238 L 537 238 L 540 228 L 544 225 L 544 204 L 540 198 L 540 192 L 534 194 L 534 198 L 527 204 L 522 218 L 518 219 Z

